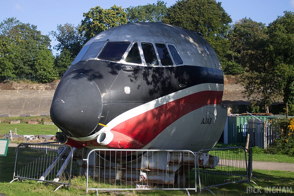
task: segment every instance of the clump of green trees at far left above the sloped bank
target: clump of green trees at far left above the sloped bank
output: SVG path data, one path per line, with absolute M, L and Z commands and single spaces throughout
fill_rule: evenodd
M 47 68 L 51 62 L 40 65 L 40 55 L 52 56 L 49 36 L 37 31 L 37 26 L 21 23 L 9 18 L 0 23 L 0 76 L 15 77 L 16 75 L 37 74 L 41 81 L 50 81 L 51 72 Z M 38 59 L 38 60 L 37 60 Z M 37 64 L 36 64 L 37 63 Z

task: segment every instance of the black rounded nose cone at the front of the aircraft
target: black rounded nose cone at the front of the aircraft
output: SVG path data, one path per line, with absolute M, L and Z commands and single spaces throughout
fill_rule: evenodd
M 71 137 L 85 137 L 97 127 L 101 113 L 101 93 L 91 78 L 74 73 L 61 79 L 50 116 L 62 132 Z

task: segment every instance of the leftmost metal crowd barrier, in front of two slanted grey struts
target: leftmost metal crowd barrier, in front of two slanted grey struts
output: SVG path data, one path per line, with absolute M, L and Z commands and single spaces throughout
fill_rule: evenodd
M 54 192 L 61 186 L 69 188 L 73 153 L 69 145 L 21 143 L 16 148 L 14 179 L 11 182 L 36 180 L 59 184 Z

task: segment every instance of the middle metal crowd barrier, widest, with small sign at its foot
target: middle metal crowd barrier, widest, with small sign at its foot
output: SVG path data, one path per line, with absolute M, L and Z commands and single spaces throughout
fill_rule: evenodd
M 95 190 L 196 191 L 196 156 L 189 150 L 94 149 L 84 161 L 86 192 Z

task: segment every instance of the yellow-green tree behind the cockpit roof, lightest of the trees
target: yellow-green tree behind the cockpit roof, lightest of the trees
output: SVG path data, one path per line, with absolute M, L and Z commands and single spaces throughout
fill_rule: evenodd
M 78 28 L 80 34 L 86 38 L 85 42 L 92 37 L 110 29 L 111 27 L 127 24 L 127 13 L 120 6 L 112 6 L 110 9 L 102 9 L 100 6 L 91 8 L 90 11 L 83 14 L 81 26 Z

